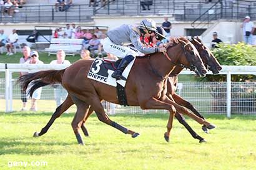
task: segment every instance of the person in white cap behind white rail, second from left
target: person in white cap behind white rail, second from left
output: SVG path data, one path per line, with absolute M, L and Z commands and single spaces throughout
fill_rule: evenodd
M 39 60 L 39 55 L 37 51 L 32 51 L 31 52 L 31 60 L 27 60 L 24 64 L 44 64 L 41 60 Z M 29 83 L 27 87 L 27 92 L 29 92 L 29 89 L 32 87 L 32 82 Z M 31 111 L 37 111 L 37 103 L 36 101 L 41 98 L 41 92 L 42 92 L 42 87 L 37 88 L 34 93 L 32 94 L 31 98 Z M 28 93 L 27 93 L 28 95 Z

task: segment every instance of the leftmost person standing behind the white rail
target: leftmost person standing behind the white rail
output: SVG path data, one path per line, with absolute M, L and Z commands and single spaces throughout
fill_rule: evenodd
M 25 62 L 29 61 L 30 58 L 30 52 L 31 49 L 28 46 L 24 46 L 22 49 L 22 54 L 23 57 L 19 59 L 19 64 L 24 64 Z M 25 75 L 27 72 L 20 72 L 19 75 Z M 22 108 L 21 111 L 26 111 L 27 110 L 27 95 L 26 95 L 26 90 L 23 90 L 22 88 L 23 82 L 21 82 L 21 101 L 22 101 Z

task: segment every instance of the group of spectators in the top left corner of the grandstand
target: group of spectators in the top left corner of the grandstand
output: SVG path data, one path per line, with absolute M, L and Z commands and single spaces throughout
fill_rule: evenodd
M 5 17 L 6 14 L 9 17 L 13 17 L 14 13 L 19 12 L 19 8 L 23 4 L 26 4 L 26 0 L 0 0 L 2 17 Z

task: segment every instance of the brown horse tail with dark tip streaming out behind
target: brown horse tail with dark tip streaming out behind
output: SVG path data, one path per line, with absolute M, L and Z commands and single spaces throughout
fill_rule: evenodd
M 27 73 L 19 77 L 19 82 L 22 83 L 23 90 L 26 90 L 29 83 L 32 82 L 31 88 L 29 89 L 29 95 L 32 97 L 32 93 L 39 87 L 46 85 L 61 83 L 62 75 L 65 72 L 63 70 L 46 70 L 36 73 Z

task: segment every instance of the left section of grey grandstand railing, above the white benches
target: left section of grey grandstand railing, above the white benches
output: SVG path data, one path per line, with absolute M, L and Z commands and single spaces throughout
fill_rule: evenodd
M 66 11 L 54 5 L 22 6 L 17 10 L 12 17 L 0 12 L 0 22 L 86 22 L 94 15 L 89 4 L 74 4 Z

